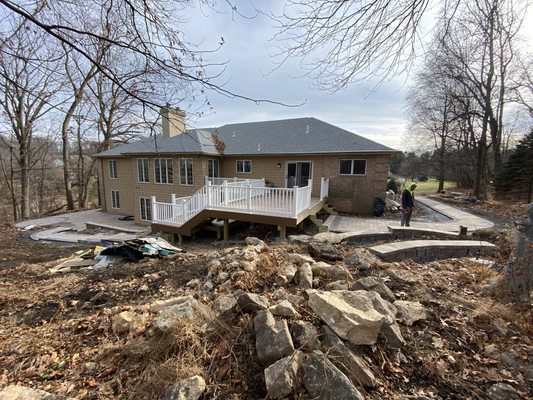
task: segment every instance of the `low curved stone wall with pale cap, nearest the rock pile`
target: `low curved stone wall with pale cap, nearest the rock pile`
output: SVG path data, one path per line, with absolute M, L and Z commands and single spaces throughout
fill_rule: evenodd
M 477 240 L 410 240 L 380 244 L 368 249 L 384 261 L 411 258 L 417 262 L 428 262 L 452 257 L 478 256 L 495 248 L 492 243 Z

